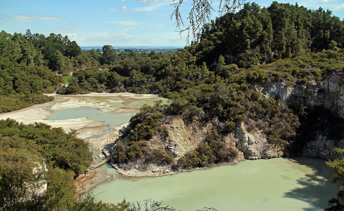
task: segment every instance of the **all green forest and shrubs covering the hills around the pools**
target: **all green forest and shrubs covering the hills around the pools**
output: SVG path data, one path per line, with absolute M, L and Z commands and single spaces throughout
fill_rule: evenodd
M 338 128 L 344 121 L 332 111 L 307 107 L 302 100 L 286 105 L 251 89 L 274 82 L 308 88 L 344 71 L 344 20 L 322 8 L 309 10 L 277 2 L 261 8 L 245 3 L 237 13 L 204 25 L 196 41 L 171 54 L 118 52 L 110 45 L 82 51 L 61 34 L 45 37 L 30 30 L 13 35 L 2 31 L 0 64 L 0 112 L 51 101 L 43 93 L 55 91 L 64 95 L 152 93 L 168 98 L 170 104 L 143 106 L 130 119 L 111 155 L 118 164 L 135 160 L 171 164 L 172 153 L 151 149 L 147 142 L 155 134 L 168 136 L 162 126 L 166 116 L 181 115 L 187 123 L 212 121 L 214 125 L 202 144 L 173 164 L 175 169 L 230 162 L 235 153 L 225 149 L 221 136 L 241 122 L 249 129 L 260 129 L 269 144 L 294 155 L 300 155 L 305 140 L 311 138 L 309 131 L 343 139 Z M 61 75 L 69 74 L 69 85 L 64 86 Z M 314 124 L 316 120 L 321 121 Z M 141 209 L 125 200 L 115 205 L 92 195 L 74 197 L 73 179 L 85 171 L 91 158 L 75 131 L 66 134 L 42 123 L 24 125 L 8 119 L 0 121 L 0 137 L 0 210 Z M 41 167 L 31 174 L 32 168 L 45 165 L 49 171 Z M 340 191 L 326 210 L 343 210 L 344 161 L 336 159 L 327 165 L 336 170 L 334 180 Z M 23 198 L 28 191 L 25 184 L 38 181 L 42 174 L 48 187 L 45 195 Z M 154 206 L 173 210 L 154 201 L 150 206 L 151 210 Z

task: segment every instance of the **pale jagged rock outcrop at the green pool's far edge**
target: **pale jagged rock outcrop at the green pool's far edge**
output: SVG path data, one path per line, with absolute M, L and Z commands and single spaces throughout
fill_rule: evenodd
M 283 156 L 280 147 L 269 144 L 266 136 L 259 130 L 249 133 L 244 123 L 237 128 L 234 137 L 237 148 L 243 152 L 245 159 L 269 159 Z

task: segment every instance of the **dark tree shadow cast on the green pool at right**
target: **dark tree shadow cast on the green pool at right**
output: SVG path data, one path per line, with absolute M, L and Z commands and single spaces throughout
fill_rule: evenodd
M 332 169 L 326 166 L 324 159 L 308 159 L 305 157 L 289 158 L 290 161 L 298 165 L 307 166 L 312 169 L 311 173 L 297 180 L 301 187 L 296 187 L 284 193 L 284 197 L 294 198 L 305 202 L 310 202 L 322 209 L 327 207 L 327 200 L 336 196 L 338 187 L 331 181 Z M 302 170 L 302 169 L 300 169 Z M 313 211 L 313 208 L 304 208 Z

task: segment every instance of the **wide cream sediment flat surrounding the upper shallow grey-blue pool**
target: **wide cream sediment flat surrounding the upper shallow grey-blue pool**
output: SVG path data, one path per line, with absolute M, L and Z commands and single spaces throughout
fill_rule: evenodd
M 103 133 L 107 126 L 103 121 L 94 121 L 85 117 L 77 119 L 64 119 L 64 120 L 48 120 L 48 117 L 56 113 L 57 110 L 64 110 L 70 108 L 90 107 L 103 110 L 101 113 L 126 113 L 137 112 L 139 109 L 132 106 L 133 104 L 144 103 L 147 100 L 159 99 L 157 95 L 150 94 L 134 94 L 129 92 L 123 93 L 89 93 L 86 95 L 56 95 L 55 100 L 52 102 L 37 104 L 28 108 L 8 113 L 1 113 L 0 119 L 14 119 L 18 122 L 25 124 L 32 124 L 35 122 L 42 122 L 49 124 L 52 127 L 62 127 L 65 132 L 70 132 L 71 129 L 79 130 L 77 137 L 86 138 L 92 135 Z M 139 98 L 139 99 L 136 99 Z M 130 106 L 128 106 L 130 104 Z M 120 110 L 112 108 L 113 106 L 120 105 Z M 49 109 L 49 107 L 51 107 Z M 118 130 L 118 127 L 116 127 Z M 105 138 L 105 137 L 104 137 Z M 106 140 L 106 138 L 105 138 Z M 97 142 L 100 141 L 97 139 Z M 93 143 L 96 144 L 96 143 Z M 101 144 L 103 145 L 103 144 Z

